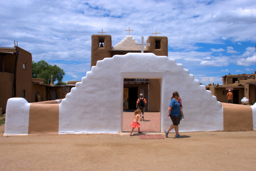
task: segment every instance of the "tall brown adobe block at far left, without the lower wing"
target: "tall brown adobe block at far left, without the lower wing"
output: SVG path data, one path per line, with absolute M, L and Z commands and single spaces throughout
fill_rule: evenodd
M 31 53 L 17 46 L 0 47 L 0 108 L 3 113 L 9 98 L 22 97 L 32 101 L 31 73 Z

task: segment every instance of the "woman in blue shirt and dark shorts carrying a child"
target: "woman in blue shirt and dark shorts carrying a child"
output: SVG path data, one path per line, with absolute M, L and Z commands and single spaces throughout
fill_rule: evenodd
M 165 130 L 165 137 L 168 137 L 168 133 L 170 130 L 174 128 L 175 130 L 175 137 L 176 138 L 182 138 L 179 134 L 179 124 L 180 124 L 180 103 L 178 103 L 174 98 L 178 99 L 179 93 L 178 92 L 173 92 L 171 96 L 171 102 L 169 104 L 168 108 L 168 115 L 167 117 L 170 116 L 172 125 L 168 128 L 168 130 Z

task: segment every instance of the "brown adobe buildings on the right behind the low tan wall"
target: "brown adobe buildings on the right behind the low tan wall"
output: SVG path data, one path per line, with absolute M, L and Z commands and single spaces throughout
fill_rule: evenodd
M 249 105 L 256 103 L 256 71 L 254 74 L 237 74 L 222 76 L 223 85 L 206 85 L 206 90 L 210 90 L 217 100 L 226 103 L 228 90 L 233 93 L 233 103 L 241 104 L 241 99 L 249 99 Z

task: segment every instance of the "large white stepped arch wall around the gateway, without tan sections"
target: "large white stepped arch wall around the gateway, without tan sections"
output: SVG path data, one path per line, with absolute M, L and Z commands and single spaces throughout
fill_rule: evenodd
M 182 98 L 185 116 L 180 132 L 223 130 L 221 103 L 182 64 L 153 53 L 128 53 L 98 61 L 76 83 L 60 104 L 59 134 L 122 131 L 124 78 L 162 79 L 161 131 L 171 124 L 166 115 L 174 91 Z

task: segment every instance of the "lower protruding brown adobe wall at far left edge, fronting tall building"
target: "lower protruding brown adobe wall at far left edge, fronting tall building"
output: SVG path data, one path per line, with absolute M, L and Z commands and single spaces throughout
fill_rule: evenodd
M 13 97 L 13 74 L 0 72 L 0 108 L 5 113 L 7 100 Z

